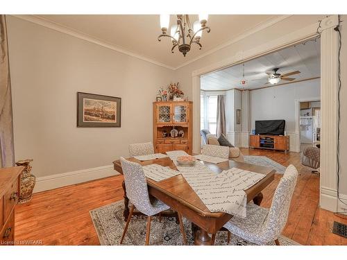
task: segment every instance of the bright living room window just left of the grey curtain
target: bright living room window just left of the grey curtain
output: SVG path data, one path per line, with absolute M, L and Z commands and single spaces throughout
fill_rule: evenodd
M 216 135 L 217 130 L 217 95 L 201 92 L 200 96 L 200 128 L 210 130 Z

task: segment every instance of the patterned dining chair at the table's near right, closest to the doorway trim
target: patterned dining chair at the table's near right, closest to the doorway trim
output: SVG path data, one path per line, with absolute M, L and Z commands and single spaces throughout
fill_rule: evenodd
M 246 218 L 232 217 L 224 227 L 232 234 L 257 245 L 266 245 L 271 241 L 280 245 L 278 236 L 287 223 L 297 178 L 298 171 L 289 165 L 276 188 L 270 209 L 248 203 Z

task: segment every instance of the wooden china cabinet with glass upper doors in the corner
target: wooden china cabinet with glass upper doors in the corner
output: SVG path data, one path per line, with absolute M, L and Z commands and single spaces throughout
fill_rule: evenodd
M 155 153 L 185 150 L 190 155 L 192 154 L 192 108 L 191 101 L 153 102 L 153 144 Z M 171 130 L 173 129 L 181 133 L 183 131 L 184 135 L 171 137 Z

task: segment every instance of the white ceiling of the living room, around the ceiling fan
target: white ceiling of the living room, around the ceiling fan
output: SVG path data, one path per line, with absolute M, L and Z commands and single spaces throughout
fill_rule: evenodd
M 274 68 L 280 68 L 278 73 L 282 74 L 301 71 L 301 73 L 289 76 L 289 78 L 296 78 L 296 80 L 319 77 L 321 75 L 320 49 L 321 44 L 318 39 L 245 62 L 244 78 L 246 79 L 246 85 L 241 83 L 242 64 L 205 74 L 201 76 L 201 89 L 213 91 L 234 88 L 257 89 L 269 86 L 270 84 L 264 85 L 267 78 L 269 78 L 265 72 Z M 281 80 L 278 84 L 287 82 L 289 81 Z

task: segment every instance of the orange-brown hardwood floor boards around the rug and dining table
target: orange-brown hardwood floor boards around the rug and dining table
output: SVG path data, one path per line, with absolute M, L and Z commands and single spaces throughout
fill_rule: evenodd
M 347 245 L 332 234 L 332 223 L 347 220 L 318 207 L 319 177 L 301 166 L 298 153 L 242 149 L 244 155 L 264 155 L 284 166 L 294 164 L 300 173 L 289 218 L 282 234 L 303 245 Z M 270 207 L 280 177 L 264 189 L 262 207 Z M 15 239 L 42 241 L 44 245 L 99 245 L 89 211 L 123 198 L 121 175 L 51 191 L 35 193 L 33 200 L 16 207 Z

